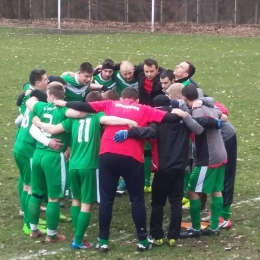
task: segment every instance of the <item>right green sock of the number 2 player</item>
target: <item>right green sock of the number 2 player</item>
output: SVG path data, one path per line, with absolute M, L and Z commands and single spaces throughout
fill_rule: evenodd
M 60 217 L 60 203 L 49 201 L 46 208 L 46 221 L 49 230 L 57 230 Z

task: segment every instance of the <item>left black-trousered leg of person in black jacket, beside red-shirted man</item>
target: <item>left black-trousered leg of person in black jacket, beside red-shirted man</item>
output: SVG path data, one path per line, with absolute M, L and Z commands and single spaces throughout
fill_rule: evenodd
M 152 183 L 152 211 L 150 217 L 150 235 L 155 245 L 163 243 L 163 208 L 167 200 L 168 183 L 164 172 L 155 172 Z M 167 187 L 165 187 L 165 184 Z

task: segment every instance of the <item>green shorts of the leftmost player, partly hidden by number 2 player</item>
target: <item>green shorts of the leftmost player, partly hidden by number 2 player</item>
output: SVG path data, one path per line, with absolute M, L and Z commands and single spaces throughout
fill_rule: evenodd
M 19 169 L 23 184 L 31 184 L 32 158 L 14 152 L 14 160 Z

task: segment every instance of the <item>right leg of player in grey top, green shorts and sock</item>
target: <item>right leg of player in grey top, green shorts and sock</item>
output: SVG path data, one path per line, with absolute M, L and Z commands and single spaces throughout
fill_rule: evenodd
M 223 205 L 223 190 L 225 176 L 225 165 L 218 168 L 208 168 L 202 192 L 212 194 L 211 200 L 211 222 L 210 226 L 202 230 L 203 235 L 219 235 L 219 217 Z

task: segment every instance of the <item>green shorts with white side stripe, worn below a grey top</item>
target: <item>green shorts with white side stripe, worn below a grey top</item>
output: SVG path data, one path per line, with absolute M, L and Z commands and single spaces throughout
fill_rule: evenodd
M 218 168 L 195 166 L 187 187 L 188 191 L 212 194 L 224 189 L 225 165 Z

